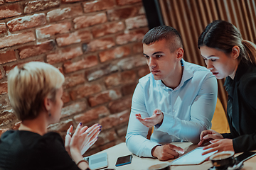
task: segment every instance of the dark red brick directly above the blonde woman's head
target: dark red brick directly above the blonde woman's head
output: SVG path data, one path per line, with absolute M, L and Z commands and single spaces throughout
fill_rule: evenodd
M 38 45 L 29 45 L 25 47 L 18 48 L 18 55 L 21 59 L 41 55 L 45 52 L 50 52 L 55 49 L 55 42 L 53 40 L 48 40 L 41 42 Z

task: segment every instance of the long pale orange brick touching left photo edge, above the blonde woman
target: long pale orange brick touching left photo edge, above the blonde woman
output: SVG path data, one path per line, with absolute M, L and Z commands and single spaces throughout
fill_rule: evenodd
M 7 35 L 0 38 L 0 48 L 11 47 L 13 45 L 25 44 L 26 42 L 31 42 L 36 40 L 33 32 L 17 33 L 12 35 Z

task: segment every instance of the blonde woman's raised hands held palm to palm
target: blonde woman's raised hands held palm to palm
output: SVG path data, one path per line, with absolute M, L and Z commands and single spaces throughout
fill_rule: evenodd
M 100 128 L 99 124 L 92 125 L 90 128 L 87 126 L 82 127 L 82 124 L 79 124 L 71 136 L 69 135 L 69 133 L 73 132 L 73 126 L 71 125 L 65 136 L 65 149 L 68 154 L 70 154 L 70 148 L 84 154 L 97 141 Z

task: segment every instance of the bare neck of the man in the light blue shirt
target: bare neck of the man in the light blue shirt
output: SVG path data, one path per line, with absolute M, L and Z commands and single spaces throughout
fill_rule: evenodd
M 175 68 L 174 74 L 167 79 L 163 79 L 162 82 L 169 88 L 176 89 L 176 87 L 181 83 L 182 74 L 183 66 L 181 66 L 181 63 L 179 62 Z

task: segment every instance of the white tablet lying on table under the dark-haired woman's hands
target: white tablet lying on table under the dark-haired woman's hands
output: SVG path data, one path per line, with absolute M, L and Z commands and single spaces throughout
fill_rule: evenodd
M 206 151 L 207 149 L 203 150 L 203 147 L 197 147 L 196 149 L 193 149 L 191 152 L 184 154 L 178 159 L 175 159 L 173 162 L 171 162 L 171 165 L 201 164 L 206 160 L 207 157 L 210 157 L 210 155 L 214 154 L 215 152 L 218 152 L 218 151 L 215 151 L 215 152 L 210 152 L 208 154 L 202 155 L 202 153 Z

